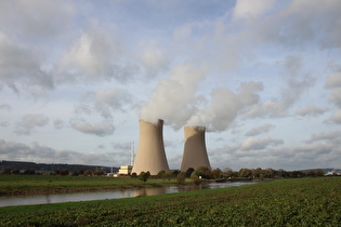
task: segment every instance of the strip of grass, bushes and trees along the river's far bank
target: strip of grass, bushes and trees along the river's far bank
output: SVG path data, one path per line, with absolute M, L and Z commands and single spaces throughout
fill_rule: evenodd
M 178 170 L 160 171 L 152 176 L 149 172 L 142 172 L 139 175 L 107 177 L 103 171 L 82 171 L 77 174 L 68 170 L 56 170 L 54 173 L 38 173 L 35 170 L 4 169 L 0 174 L 0 196 L 34 195 L 34 193 L 58 193 L 89 190 L 105 190 L 133 187 L 161 187 L 175 184 L 200 184 L 210 179 L 266 179 L 301 176 L 320 176 L 322 170 L 311 173 L 299 171 L 286 172 L 272 169 L 241 169 L 239 172 L 225 169 L 210 170 L 207 166 L 199 166 L 196 170 L 189 168 L 186 172 Z M 199 179 L 199 177 L 201 179 Z

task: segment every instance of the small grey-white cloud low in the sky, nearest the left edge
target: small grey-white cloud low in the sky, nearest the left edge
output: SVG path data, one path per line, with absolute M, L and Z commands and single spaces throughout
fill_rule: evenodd
M 41 114 L 25 115 L 22 121 L 16 123 L 14 132 L 19 135 L 30 135 L 36 128 L 42 128 L 49 123 L 49 118 Z

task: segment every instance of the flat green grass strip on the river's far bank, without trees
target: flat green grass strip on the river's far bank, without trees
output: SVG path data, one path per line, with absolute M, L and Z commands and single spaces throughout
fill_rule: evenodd
M 0 196 L 76 192 L 132 187 L 160 187 L 175 179 L 115 178 L 106 176 L 0 175 Z

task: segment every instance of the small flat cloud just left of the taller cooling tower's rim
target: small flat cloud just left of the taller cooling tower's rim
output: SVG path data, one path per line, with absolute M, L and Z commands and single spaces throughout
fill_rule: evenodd
M 89 122 L 86 122 L 84 120 L 74 119 L 70 121 L 70 125 L 79 132 L 82 132 L 86 134 L 93 134 L 101 137 L 112 135 L 115 131 L 115 128 L 112 121 L 101 121 L 101 122 L 89 123 Z

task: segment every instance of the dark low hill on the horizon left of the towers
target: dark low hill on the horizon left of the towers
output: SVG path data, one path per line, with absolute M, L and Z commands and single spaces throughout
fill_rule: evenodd
M 68 170 L 69 172 L 79 171 L 104 171 L 105 173 L 117 172 L 119 168 L 102 166 L 102 165 L 86 165 L 86 164 L 55 164 L 55 163 L 35 163 L 35 162 L 24 162 L 24 161 L 0 161 L 0 171 L 9 168 L 11 170 L 17 169 L 19 171 L 25 171 L 34 169 L 36 172 L 55 172 L 62 170 Z

